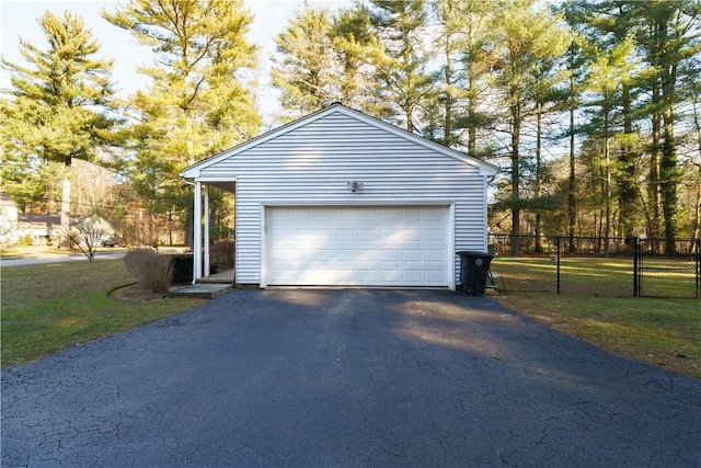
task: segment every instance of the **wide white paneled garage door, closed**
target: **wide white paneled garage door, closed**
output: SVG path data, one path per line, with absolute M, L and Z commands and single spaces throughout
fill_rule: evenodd
M 448 207 L 271 207 L 268 285 L 447 286 Z

